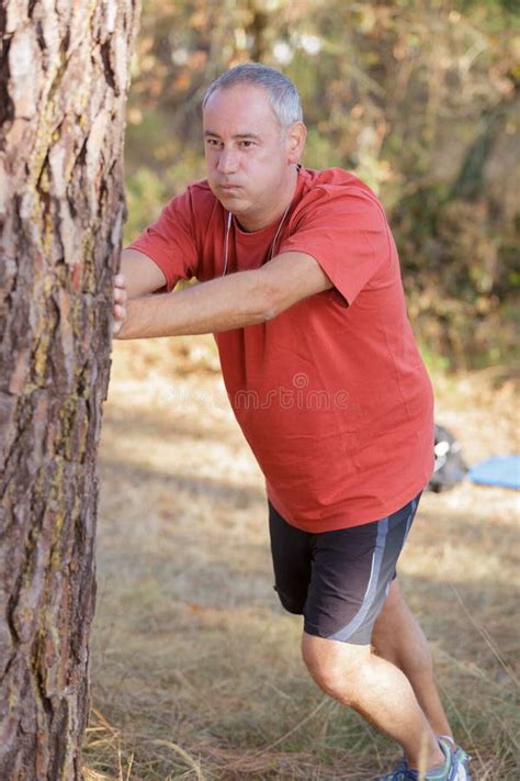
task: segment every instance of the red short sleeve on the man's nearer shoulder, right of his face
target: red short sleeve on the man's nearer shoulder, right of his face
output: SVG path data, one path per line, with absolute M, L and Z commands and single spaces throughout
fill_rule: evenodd
M 320 186 L 302 200 L 294 230 L 280 253 L 314 257 L 349 304 L 384 265 L 389 265 L 388 225 L 371 191 Z

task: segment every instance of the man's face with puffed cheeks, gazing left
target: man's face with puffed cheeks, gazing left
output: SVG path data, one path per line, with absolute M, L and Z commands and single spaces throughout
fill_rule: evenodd
M 217 90 L 206 103 L 203 123 L 213 193 L 246 230 L 268 225 L 280 211 L 278 202 L 286 198 L 295 160 L 264 90 L 249 83 Z

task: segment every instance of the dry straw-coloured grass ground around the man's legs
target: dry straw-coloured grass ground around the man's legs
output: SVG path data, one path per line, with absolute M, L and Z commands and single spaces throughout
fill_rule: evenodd
M 396 748 L 324 698 L 272 590 L 263 482 L 204 337 L 118 343 L 101 448 L 87 781 L 373 778 Z M 518 450 L 510 381 L 437 379 L 473 462 Z M 518 494 L 425 495 L 400 567 L 476 781 L 520 777 Z M 515 721 L 517 718 L 517 722 Z

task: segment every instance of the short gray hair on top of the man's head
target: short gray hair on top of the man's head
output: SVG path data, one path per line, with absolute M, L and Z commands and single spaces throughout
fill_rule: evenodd
M 294 122 L 303 121 L 299 94 L 291 79 L 280 70 L 260 63 L 245 63 L 222 74 L 207 88 L 202 108 L 205 109 L 207 101 L 218 89 L 229 89 L 240 83 L 258 85 L 265 90 L 269 104 L 282 130 L 290 127 Z

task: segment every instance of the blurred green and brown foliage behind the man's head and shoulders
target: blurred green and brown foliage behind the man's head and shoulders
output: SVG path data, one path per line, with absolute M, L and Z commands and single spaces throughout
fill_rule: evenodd
M 201 101 L 258 60 L 297 85 L 312 168 L 382 198 L 430 364 L 511 365 L 519 325 L 520 24 L 515 3 L 143 0 L 125 242 L 204 178 Z

